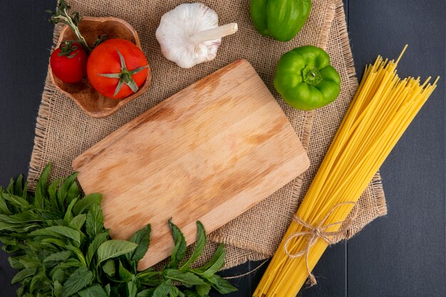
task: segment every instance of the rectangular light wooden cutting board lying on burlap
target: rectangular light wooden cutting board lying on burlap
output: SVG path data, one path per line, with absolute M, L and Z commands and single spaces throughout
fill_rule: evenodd
M 304 172 L 306 152 L 244 60 L 199 80 L 120 127 L 73 162 L 86 194 L 103 194 L 106 228 L 129 239 L 152 226 L 139 269 L 170 256 L 167 220 L 196 240 Z

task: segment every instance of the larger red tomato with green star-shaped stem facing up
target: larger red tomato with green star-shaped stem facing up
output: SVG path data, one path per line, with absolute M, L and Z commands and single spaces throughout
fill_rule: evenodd
M 87 62 L 87 75 L 93 88 L 112 99 L 122 99 L 138 91 L 147 72 L 144 53 L 125 39 L 100 43 Z

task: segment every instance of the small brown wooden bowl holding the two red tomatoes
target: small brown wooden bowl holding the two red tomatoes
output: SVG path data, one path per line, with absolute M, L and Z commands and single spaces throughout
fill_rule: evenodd
M 128 22 L 122 19 L 85 16 L 79 23 L 79 31 L 81 31 L 82 36 L 85 38 L 85 41 L 87 41 L 89 46 L 95 43 L 98 36 L 106 34 L 108 38 L 123 38 L 135 43 L 138 48 L 141 48 L 138 33 L 136 33 L 135 29 L 130 26 Z M 63 41 L 69 39 L 77 38 L 73 31 L 71 31 L 71 28 L 65 26 L 61 31 L 57 46 L 60 46 Z M 84 113 L 93 118 L 105 118 L 108 115 L 112 115 L 119 108 L 123 107 L 123 105 L 142 95 L 145 90 L 147 90 L 150 81 L 152 80 L 152 74 L 149 68 L 147 79 L 138 92 L 130 95 L 128 98 L 110 99 L 98 93 L 86 77 L 79 83 L 64 83 L 62 80 L 56 78 L 56 75 L 53 75 L 53 71 L 49 71 L 49 75 L 53 84 L 56 85 L 62 93 L 71 98 L 71 100 L 73 100 Z

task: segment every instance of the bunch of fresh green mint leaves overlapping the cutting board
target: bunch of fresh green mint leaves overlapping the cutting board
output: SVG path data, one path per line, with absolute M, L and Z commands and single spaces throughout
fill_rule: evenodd
M 206 233 L 197 222 L 197 244 L 185 259 L 186 241 L 168 222 L 175 241 L 170 263 L 161 271 L 137 271 L 150 244 L 150 225 L 130 241 L 110 239 L 103 226 L 102 196 L 83 197 L 76 173 L 48 184 L 51 164 L 43 170 L 35 194 L 23 176 L 0 188 L 0 241 L 14 253 L 9 263 L 19 272 L 17 296 L 54 297 L 206 297 L 237 291 L 216 273 L 224 264 L 221 244 L 209 263 L 191 268 L 202 254 Z M 179 286 L 180 285 L 180 286 Z

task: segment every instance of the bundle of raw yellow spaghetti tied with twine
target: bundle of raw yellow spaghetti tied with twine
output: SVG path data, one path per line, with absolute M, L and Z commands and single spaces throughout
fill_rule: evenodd
M 406 46 L 407 47 L 407 46 Z M 406 48 L 405 47 L 405 48 Z M 403 53 L 405 51 L 403 49 Z M 436 87 L 430 78 L 400 79 L 398 60 L 378 56 L 338 128 L 288 231 L 254 296 L 294 297 L 328 244 L 348 229 L 348 218 L 373 175 Z M 348 218 L 348 219 L 347 219 Z

